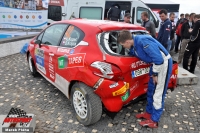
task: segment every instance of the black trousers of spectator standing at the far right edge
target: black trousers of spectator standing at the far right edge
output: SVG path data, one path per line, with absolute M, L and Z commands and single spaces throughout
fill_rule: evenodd
M 200 48 L 200 42 L 199 43 L 189 42 L 185 49 L 185 53 L 183 57 L 183 68 L 188 70 L 188 61 L 189 61 L 190 56 L 192 55 L 192 62 L 190 64 L 190 69 L 189 69 L 191 73 L 194 73 L 195 67 L 197 65 L 199 48 Z

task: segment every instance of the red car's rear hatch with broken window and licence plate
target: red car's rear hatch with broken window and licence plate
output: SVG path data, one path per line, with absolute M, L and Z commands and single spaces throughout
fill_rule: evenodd
M 147 35 L 145 30 L 130 30 L 134 35 Z M 105 53 L 105 62 L 113 64 L 121 70 L 121 77 L 129 83 L 130 99 L 146 93 L 148 88 L 150 64 L 147 64 L 136 57 L 130 56 L 129 50 L 124 49 L 117 43 L 119 31 L 106 31 L 98 35 L 98 41 Z M 173 74 L 177 74 L 177 66 L 173 68 Z M 176 86 L 176 78 L 170 80 L 170 88 Z M 173 84 L 172 84 L 173 82 Z

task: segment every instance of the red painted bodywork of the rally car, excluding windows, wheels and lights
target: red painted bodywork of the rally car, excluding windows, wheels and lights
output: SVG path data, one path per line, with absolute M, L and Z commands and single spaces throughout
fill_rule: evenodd
M 96 93 L 102 100 L 102 103 L 111 112 L 118 112 L 121 108 L 128 104 L 131 100 L 145 94 L 148 88 L 149 75 L 144 74 L 132 78 L 132 72 L 138 69 L 145 69 L 148 72 L 149 64 L 140 61 L 135 57 L 112 56 L 103 52 L 98 44 L 97 35 L 104 31 L 112 30 L 144 30 L 143 27 L 112 21 L 88 21 L 88 20 L 66 20 L 55 24 L 71 24 L 78 27 L 85 33 L 85 37 L 80 42 L 84 45 L 78 45 L 74 48 L 52 47 L 34 44 L 35 38 L 30 42 L 28 51 L 34 59 L 34 63 L 41 64 L 37 66 L 37 71 L 42 73 L 51 83 L 55 84 L 65 95 L 69 97 L 69 84 L 72 81 L 83 82 L 90 87 L 94 87 L 97 82 L 102 79 L 97 88 Z M 54 25 L 54 24 L 53 24 Z M 43 31 L 42 31 L 43 32 Z M 39 49 L 37 52 L 35 49 Z M 54 55 L 53 58 L 50 55 Z M 39 56 L 39 57 L 37 57 Z M 36 58 L 38 60 L 36 61 Z M 60 65 L 60 60 L 66 60 L 65 66 Z M 95 61 L 113 64 L 121 71 L 121 79 L 112 80 L 99 77 L 94 74 L 91 64 Z M 43 69 L 45 71 L 43 71 Z M 44 73 L 45 72 L 45 73 Z M 178 64 L 173 65 L 172 76 L 168 88 L 176 87 L 178 73 Z M 125 92 L 114 96 L 117 91 Z M 121 91 L 120 91 L 121 89 Z

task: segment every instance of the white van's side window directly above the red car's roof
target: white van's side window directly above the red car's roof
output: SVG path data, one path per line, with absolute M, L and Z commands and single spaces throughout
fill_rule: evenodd
M 102 8 L 101 7 L 81 7 L 80 18 L 87 19 L 102 19 Z

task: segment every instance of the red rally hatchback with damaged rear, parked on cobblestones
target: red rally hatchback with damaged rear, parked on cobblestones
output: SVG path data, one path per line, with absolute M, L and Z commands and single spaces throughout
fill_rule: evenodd
M 40 73 L 70 100 L 83 125 L 97 122 L 102 108 L 119 112 L 146 93 L 149 67 L 117 43 L 120 30 L 147 34 L 141 26 L 103 20 L 54 23 L 33 38 L 27 60 L 33 76 Z M 174 63 L 168 88 L 176 87 Z

